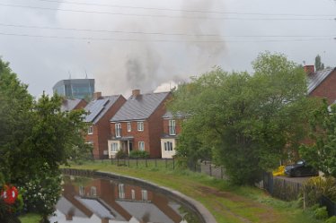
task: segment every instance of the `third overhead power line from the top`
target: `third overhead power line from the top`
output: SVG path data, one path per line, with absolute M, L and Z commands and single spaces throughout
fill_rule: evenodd
M 120 33 L 120 34 L 144 34 L 144 35 L 160 35 L 160 36 L 187 36 L 194 38 L 212 37 L 212 38 L 333 38 L 330 36 L 312 36 L 312 35 L 233 35 L 224 36 L 218 34 L 191 34 L 191 33 L 168 33 L 168 32 L 145 32 L 145 31 L 126 31 L 126 30 L 91 30 L 91 29 L 77 29 L 64 27 L 50 27 L 50 26 L 34 26 L 34 25 L 20 25 L 0 23 L 3 27 L 25 28 L 25 29 L 39 29 L 39 30 L 66 30 L 66 31 L 85 31 L 85 32 L 102 32 L 102 33 Z

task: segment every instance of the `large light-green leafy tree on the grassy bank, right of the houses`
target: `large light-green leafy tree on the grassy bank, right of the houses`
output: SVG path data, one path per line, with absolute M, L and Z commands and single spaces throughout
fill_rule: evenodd
M 173 92 L 170 105 L 189 115 L 177 156 L 212 156 L 235 184 L 253 184 L 296 150 L 314 107 L 304 71 L 286 56 L 263 53 L 253 68 L 254 75 L 217 68 L 193 78 Z

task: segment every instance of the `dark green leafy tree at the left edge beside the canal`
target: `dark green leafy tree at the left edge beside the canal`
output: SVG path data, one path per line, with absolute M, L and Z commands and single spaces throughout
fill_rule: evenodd
M 30 192 L 31 184 L 58 179 L 58 167 L 68 159 L 90 153 L 84 143 L 84 110 L 63 112 L 61 102 L 57 95 L 44 93 L 32 99 L 27 85 L 0 60 L 0 175 L 7 183 Z M 49 182 L 40 192 L 40 198 L 48 201 L 25 200 L 27 207 L 40 207 L 46 222 L 60 194 L 59 180 Z

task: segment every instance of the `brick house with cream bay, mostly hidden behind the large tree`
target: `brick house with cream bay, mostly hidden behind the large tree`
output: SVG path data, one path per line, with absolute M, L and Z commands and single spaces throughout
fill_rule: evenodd
M 161 136 L 161 154 L 162 158 L 172 158 L 175 155 L 175 147 L 178 136 L 181 133 L 181 122 L 184 116 L 181 114 L 172 115 L 168 111 L 163 116 L 164 133 Z

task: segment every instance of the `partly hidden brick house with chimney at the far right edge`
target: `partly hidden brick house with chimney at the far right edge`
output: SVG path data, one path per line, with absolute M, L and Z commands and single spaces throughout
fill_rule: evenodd
M 314 65 L 306 65 L 305 73 L 308 75 L 308 95 L 325 98 L 331 105 L 336 100 L 336 67 L 315 72 Z

